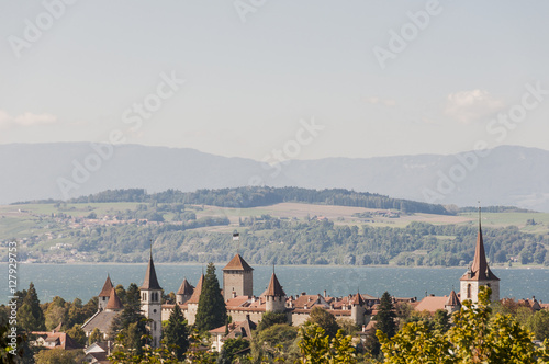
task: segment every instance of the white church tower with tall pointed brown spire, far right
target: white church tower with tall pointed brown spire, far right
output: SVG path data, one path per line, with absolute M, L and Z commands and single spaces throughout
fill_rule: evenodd
M 459 280 L 461 299 L 471 299 L 473 304 L 479 302 L 480 286 L 489 286 L 492 288 L 492 295 L 490 296 L 492 302 L 500 300 L 500 278 L 496 277 L 488 266 L 480 214 L 481 209 L 479 207 L 479 234 L 477 236 L 473 263 L 471 269 Z

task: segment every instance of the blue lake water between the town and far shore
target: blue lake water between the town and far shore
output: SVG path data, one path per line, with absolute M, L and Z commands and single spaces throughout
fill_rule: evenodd
M 216 265 L 220 283 L 221 269 Z M 66 300 L 76 297 L 85 303 L 99 294 L 107 277 L 111 275 L 114 285 L 127 287 L 130 283 L 141 285 L 146 264 L 19 264 L 18 288 L 25 289 L 32 281 L 41 303 L 60 296 Z M 272 266 L 254 268 L 254 294 L 260 295 L 267 287 Z M 177 292 L 182 280 L 195 285 L 205 265 L 156 264 L 160 286 L 165 292 Z M 8 264 L 0 263 L 2 297 L 8 302 Z M 385 291 L 399 297 L 423 297 L 425 293 L 447 295 L 452 287 L 459 289 L 463 268 L 384 268 L 384 266 L 334 266 L 334 265 L 285 265 L 276 268 L 277 276 L 288 295 L 301 292 L 323 293 L 343 296 L 350 293 L 367 293 L 381 296 Z M 501 297 L 528 298 L 536 296 L 549 302 L 548 269 L 494 269 L 501 280 Z

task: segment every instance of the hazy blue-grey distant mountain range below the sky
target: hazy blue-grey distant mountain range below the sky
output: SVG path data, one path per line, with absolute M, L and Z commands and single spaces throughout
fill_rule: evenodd
M 109 189 L 341 187 L 458 206 L 549 212 L 549 151 L 516 146 L 459 155 L 295 160 L 278 167 L 187 148 L 88 143 L 0 145 L 0 204 Z

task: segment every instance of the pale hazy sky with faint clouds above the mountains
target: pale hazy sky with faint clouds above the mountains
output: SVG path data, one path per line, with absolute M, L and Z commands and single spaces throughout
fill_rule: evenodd
M 0 144 L 255 160 L 549 149 L 548 13 L 547 1 L 2 1 Z

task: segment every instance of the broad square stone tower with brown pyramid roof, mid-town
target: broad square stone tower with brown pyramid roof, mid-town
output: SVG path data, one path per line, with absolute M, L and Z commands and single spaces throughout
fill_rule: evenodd
M 223 269 L 223 298 L 225 302 L 236 296 L 254 295 L 254 269 L 240 254 L 236 254 Z

